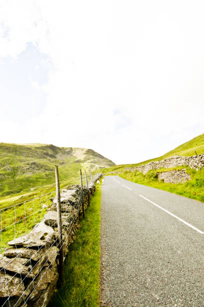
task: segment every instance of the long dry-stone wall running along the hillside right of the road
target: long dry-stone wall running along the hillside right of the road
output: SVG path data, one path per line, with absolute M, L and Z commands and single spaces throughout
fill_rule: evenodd
M 134 168 L 126 168 L 125 171 L 139 171 L 146 174 L 150 170 L 160 168 L 174 168 L 178 166 L 189 166 L 191 169 L 199 170 L 204 167 L 204 154 L 192 157 L 173 156 L 161 161 L 153 161 Z

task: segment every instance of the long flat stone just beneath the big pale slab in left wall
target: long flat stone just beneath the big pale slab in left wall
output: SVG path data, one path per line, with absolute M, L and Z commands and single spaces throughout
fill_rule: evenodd
M 38 261 L 43 256 L 44 253 L 45 253 L 45 248 L 43 247 L 41 247 L 40 249 L 32 249 L 25 247 L 19 247 L 19 248 L 10 247 L 5 250 L 4 256 L 12 258 L 18 256 Z

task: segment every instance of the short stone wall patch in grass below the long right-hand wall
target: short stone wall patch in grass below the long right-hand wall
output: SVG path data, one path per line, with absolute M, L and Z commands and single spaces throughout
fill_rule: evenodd
M 187 180 L 190 180 L 190 175 L 185 172 L 185 170 L 181 171 L 169 171 L 158 173 L 158 180 L 163 181 L 165 183 L 184 183 Z

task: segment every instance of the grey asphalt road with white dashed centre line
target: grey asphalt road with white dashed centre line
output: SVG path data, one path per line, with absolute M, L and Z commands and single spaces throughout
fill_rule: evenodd
M 101 306 L 204 306 L 203 233 L 203 203 L 105 177 Z

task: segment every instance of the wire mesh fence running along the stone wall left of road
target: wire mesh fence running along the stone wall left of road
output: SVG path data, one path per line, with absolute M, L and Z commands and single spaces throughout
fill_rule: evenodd
M 56 191 L 0 210 L 0 306 L 31 305 L 43 295 L 49 302 L 45 293 L 56 285 L 60 252 L 64 262 L 99 177 L 83 175 L 60 190 L 62 236 Z

